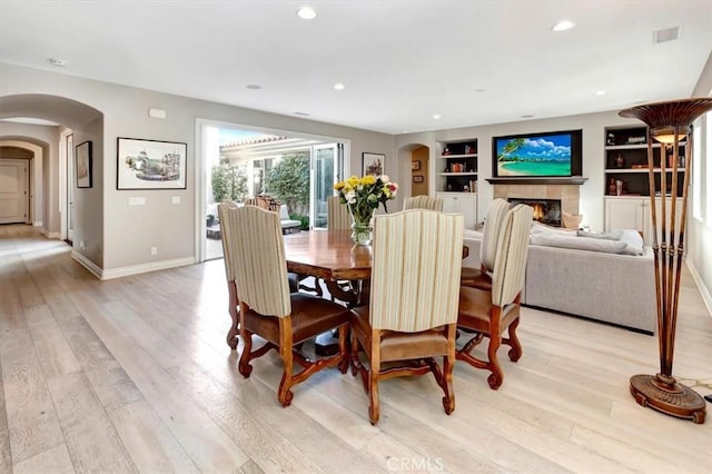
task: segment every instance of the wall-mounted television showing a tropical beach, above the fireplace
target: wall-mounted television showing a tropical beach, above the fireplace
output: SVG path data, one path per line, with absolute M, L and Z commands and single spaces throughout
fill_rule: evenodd
M 492 138 L 495 178 L 581 176 L 582 130 Z

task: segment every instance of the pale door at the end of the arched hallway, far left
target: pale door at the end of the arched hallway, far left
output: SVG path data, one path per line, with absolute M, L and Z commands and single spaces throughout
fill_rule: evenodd
M 0 160 L 0 224 L 27 223 L 29 175 L 27 160 Z

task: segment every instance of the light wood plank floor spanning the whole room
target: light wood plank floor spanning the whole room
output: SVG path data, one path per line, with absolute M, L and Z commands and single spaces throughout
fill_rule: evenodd
M 683 286 L 674 373 L 710 384 L 712 318 Z M 447 416 L 432 377 L 386 381 L 374 427 L 350 374 L 314 376 L 288 408 L 274 353 L 244 379 L 226 302 L 221 260 L 99 282 L 63 243 L 0 226 L 0 473 L 710 472 L 712 413 L 629 394 L 657 372 L 654 337 L 525 308 L 500 391 L 459 364 Z

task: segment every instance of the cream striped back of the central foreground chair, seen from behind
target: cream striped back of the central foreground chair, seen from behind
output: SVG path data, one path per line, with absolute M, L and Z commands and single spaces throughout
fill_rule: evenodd
M 374 218 L 374 329 L 415 333 L 457 320 L 464 223 L 428 209 Z

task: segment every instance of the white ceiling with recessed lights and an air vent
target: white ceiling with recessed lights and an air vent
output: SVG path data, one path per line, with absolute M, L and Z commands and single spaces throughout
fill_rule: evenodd
M 0 61 L 404 134 L 690 97 L 712 51 L 711 1 L 304 4 L 1 0 Z

